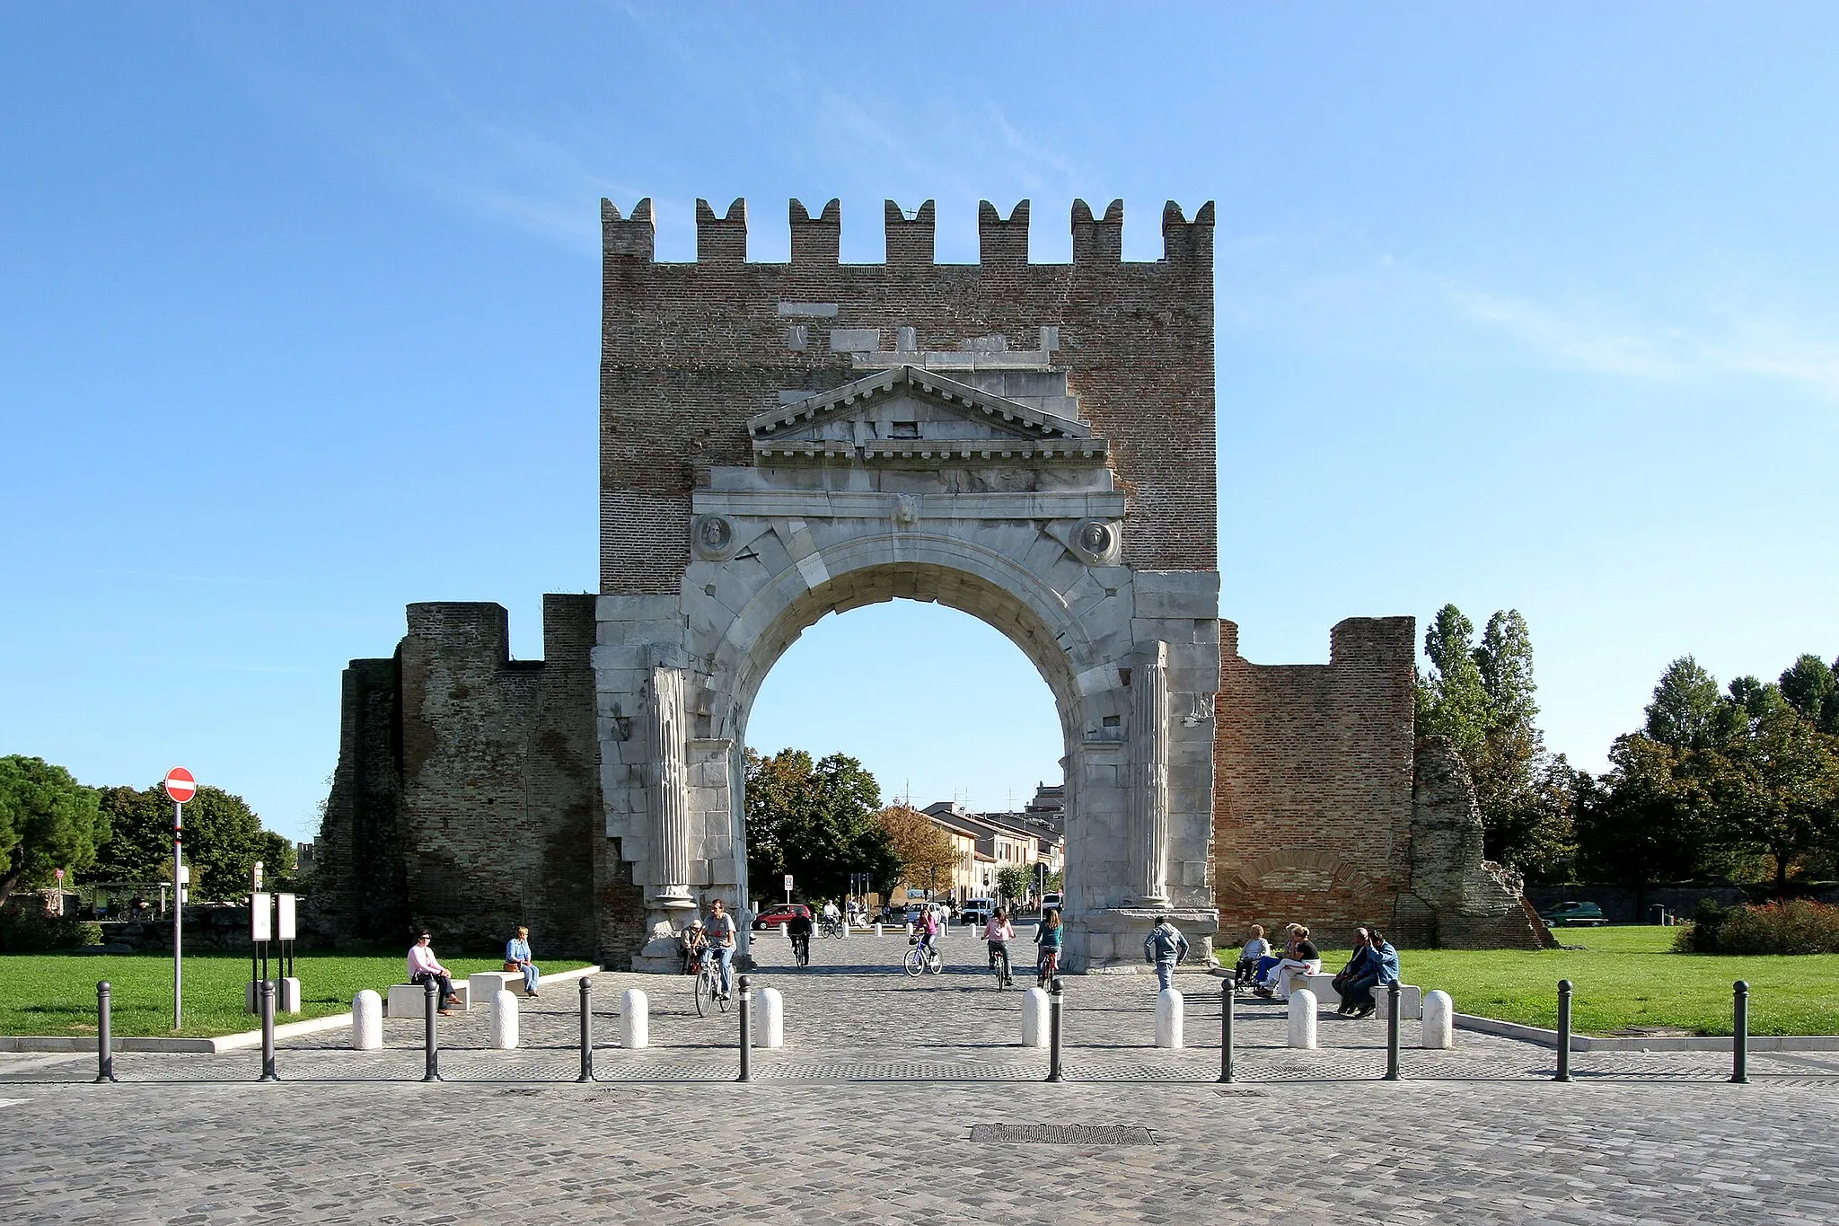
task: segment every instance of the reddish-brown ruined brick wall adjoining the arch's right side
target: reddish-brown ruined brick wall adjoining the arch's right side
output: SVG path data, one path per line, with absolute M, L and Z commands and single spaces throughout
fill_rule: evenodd
M 1394 914 L 1411 884 L 1412 618 L 1350 618 L 1330 664 L 1258 665 L 1221 621 L 1214 897 L 1223 941 L 1296 921 L 1328 943 Z

